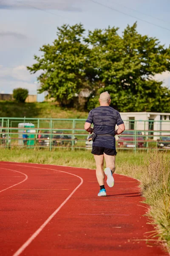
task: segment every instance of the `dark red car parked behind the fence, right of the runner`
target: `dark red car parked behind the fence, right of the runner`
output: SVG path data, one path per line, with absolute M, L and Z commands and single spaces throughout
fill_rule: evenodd
M 124 131 L 121 135 L 118 135 L 118 137 L 119 148 L 135 148 L 135 131 Z M 142 136 L 141 131 L 136 132 L 136 147 L 144 147 L 144 136 Z

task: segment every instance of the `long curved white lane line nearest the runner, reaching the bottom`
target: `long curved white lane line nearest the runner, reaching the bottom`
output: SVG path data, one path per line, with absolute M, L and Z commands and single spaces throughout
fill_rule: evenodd
M 13 166 L 24 166 L 24 167 L 29 167 L 29 168 L 31 167 L 31 165 L 30 166 L 25 166 L 25 165 L 16 165 L 16 164 L 13 164 Z M 60 206 L 49 216 L 49 218 L 34 232 L 34 234 L 32 234 L 32 236 L 13 254 L 13 256 L 19 256 L 26 249 L 26 247 L 28 247 L 28 245 L 31 244 L 31 242 L 40 234 L 40 232 L 45 228 L 45 226 L 51 221 L 52 218 L 54 218 L 54 216 L 57 214 L 57 212 L 59 212 L 59 210 L 67 203 L 67 201 L 71 198 L 71 196 L 76 192 L 76 190 L 83 183 L 82 177 L 79 177 L 78 175 L 75 175 L 75 174 L 72 174 L 72 173 L 69 173 L 69 172 L 59 171 L 59 170 L 56 170 L 56 169 L 37 167 L 37 166 L 32 166 L 32 167 L 33 168 L 38 168 L 38 169 L 46 169 L 46 170 L 51 170 L 51 171 L 67 173 L 67 174 L 73 175 L 75 177 L 78 177 L 81 180 L 81 182 L 71 192 L 71 194 L 65 199 L 65 201 L 63 201 L 62 204 L 60 204 Z

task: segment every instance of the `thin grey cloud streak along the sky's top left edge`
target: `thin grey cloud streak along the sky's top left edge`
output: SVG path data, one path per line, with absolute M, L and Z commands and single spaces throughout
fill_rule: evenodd
M 56 9 L 69 12 L 81 12 L 82 10 L 74 4 L 78 0 L 1 0 L 0 8 L 2 9 Z

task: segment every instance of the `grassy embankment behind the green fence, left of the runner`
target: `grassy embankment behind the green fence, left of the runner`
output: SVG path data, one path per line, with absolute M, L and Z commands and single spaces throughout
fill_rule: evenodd
M 61 108 L 57 105 L 56 102 L 35 102 L 35 103 L 16 103 L 16 102 L 8 102 L 8 101 L 0 101 L 0 117 L 11 117 L 11 118 L 44 118 L 43 121 L 40 121 L 40 128 L 49 128 L 50 122 L 45 120 L 46 118 L 55 118 L 55 119 L 86 119 L 88 116 L 88 111 L 79 111 L 77 109 L 68 109 Z M 10 125 L 11 127 L 17 127 L 19 122 L 24 122 L 19 119 L 11 119 Z M 28 122 L 28 119 L 26 120 Z M 35 128 L 37 127 L 36 120 L 30 120 L 29 122 L 34 123 Z M 72 128 L 72 122 L 66 121 L 56 121 L 53 123 L 54 128 Z M 4 124 L 7 126 L 7 123 Z M 77 129 L 83 129 L 84 123 L 76 123 Z M 17 130 L 12 130 L 12 133 L 17 133 Z M 65 133 L 70 133 L 69 131 Z M 82 132 L 79 132 L 82 134 Z M 9 134 L 11 137 L 11 147 L 14 149 L 15 146 L 18 145 L 18 137 L 17 134 Z M 77 147 L 85 146 L 85 137 L 78 136 Z M 82 140 L 82 141 L 81 141 Z

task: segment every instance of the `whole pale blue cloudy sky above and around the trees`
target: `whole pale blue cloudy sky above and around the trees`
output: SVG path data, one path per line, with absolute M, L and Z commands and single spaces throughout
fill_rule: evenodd
M 0 0 L 0 93 L 12 93 L 17 87 L 27 88 L 30 94 L 36 93 L 36 75 L 30 75 L 26 66 L 34 63 L 34 54 L 39 55 L 39 48 L 43 44 L 52 44 L 57 26 L 63 23 L 73 25 L 81 22 L 87 30 L 116 26 L 120 28 L 121 35 L 127 24 L 133 25 L 137 20 L 139 33 L 156 37 L 161 44 L 169 47 L 169 0 L 94 2 Z M 170 73 L 157 75 L 156 79 L 170 86 Z

